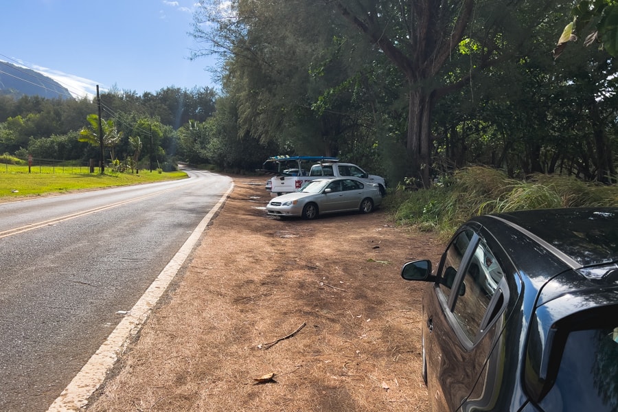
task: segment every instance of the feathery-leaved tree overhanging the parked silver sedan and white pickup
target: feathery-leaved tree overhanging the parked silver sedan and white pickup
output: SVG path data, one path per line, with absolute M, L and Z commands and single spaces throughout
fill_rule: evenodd
M 350 38 L 361 43 L 360 34 L 311 2 L 227 4 L 202 1 L 194 36 L 214 46 L 204 54 L 225 57 L 222 78 L 238 104 L 238 136 L 276 141 L 286 153 L 343 155 L 365 165 L 376 157 L 380 134 L 367 125 L 380 116 L 385 93 L 371 87 L 386 82 L 384 58 L 347 47 Z

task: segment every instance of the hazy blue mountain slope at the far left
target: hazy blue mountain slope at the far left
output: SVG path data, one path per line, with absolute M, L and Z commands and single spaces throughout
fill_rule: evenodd
M 0 95 L 11 95 L 15 99 L 27 96 L 41 96 L 47 99 L 69 99 L 71 93 L 66 87 L 38 71 L 25 69 L 0 60 Z

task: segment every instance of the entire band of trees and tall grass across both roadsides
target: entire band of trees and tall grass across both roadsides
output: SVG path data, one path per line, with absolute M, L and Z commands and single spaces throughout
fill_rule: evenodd
M 572 11 L 571 0 L 203 1 L 191 35 L 205 48 L 192 58 L 220 58 L 220 90 L 2 91 L 0 154 L 103 160 L 116 181 L 152 165 L 250 174 L 274 155 L 333 156 L 385 177 L 400 221 L 447 231 L 477 213 L 615 205 L 618 48 L 605 43 L 617 37 L 566 47 L 584 34 L 571 24 L 552 56 Z

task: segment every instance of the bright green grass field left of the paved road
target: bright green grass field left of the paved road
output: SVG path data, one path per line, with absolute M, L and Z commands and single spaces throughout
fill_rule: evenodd
M 0 164 L 0 201 L 23 196 L 41 196 L 51 193 L 65 193 L 84 189 L 137 185 L 185 179 L 185 172 L 161 172 L 141 170 L 139 174 L 108 172 L 89 173 L 82 166 L 32 166 Z

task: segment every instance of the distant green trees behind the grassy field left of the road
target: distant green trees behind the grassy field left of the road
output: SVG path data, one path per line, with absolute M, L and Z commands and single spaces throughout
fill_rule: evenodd
M 146 167 L 150 167 L 152 155 L 155 165 L 159 162 L 165 168 L 172 168 L 172 159 L 185 160 L 179 157 L 184 154 L 178 151 L 176 130 L 190 119 L 205 121 L 214 115 L 216 97 L 216 91 L 208 87 L 191 90 L 169 87 L 141 96 L 113 87 L 102 93 L 106 161 L 112 164 L 115 161 L 127 165 L 136 163 L 142 148 L 146 147 L 149 150 Z M 23 96 L 14 100 L 2 95 L 0 152 L 30 153 L 46 159 L 87 163 L 88 159 L 100 157 L 96 150 L 99 145 L 98 115 L 92 114 L 97 109 L 96 102 L 87 99 L 48 100 Z M 153 140 L 158 146 L 152 150 L 150 146 L 144 146 L 150 144 L 150 131 L 140 129 L 143 124 L 155 125 L 153 127 L 159 133 Z M 74 139 L 70 148 L 60 144 L 67 139 Z M 139 150 L 132 139 L 141 142 Z

